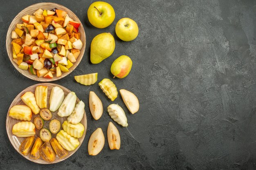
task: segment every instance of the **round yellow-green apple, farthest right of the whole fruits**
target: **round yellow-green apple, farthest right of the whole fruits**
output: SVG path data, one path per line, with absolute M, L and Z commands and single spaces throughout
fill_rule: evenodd
M 117 22 L 116 34 L 123 41 L 132 41 L 139 34 L 137 23 L 130 18 L 122 18 Z

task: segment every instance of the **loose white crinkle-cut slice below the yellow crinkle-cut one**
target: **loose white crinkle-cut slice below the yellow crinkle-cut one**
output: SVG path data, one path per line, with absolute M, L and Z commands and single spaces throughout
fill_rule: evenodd
M 108 114 L 118 124 L 121 124 L 124 127 L 128 126 L 127 118 L 124 113 L 124 110 L 119 105 L 117 105 L 117 104 L 109 105 L 108 106 Z

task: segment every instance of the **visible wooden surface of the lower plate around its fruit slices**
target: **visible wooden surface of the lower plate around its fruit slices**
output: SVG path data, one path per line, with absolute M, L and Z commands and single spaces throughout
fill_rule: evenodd
M 70 92 L 69 89 L 61 86 L 61 85 L 57 85 L 57 84 L 53 84 L 53 83 L 40 83 L 40 84 L 36 84 L 36 85 L 32 85 L 30 87 L 27 87 L 25 90 L 23 90 L 22 92 L 20 92 L 20 94 L 18 94 L 18 96 L 16 96 L 16 98 L 13 100 L 13 102 L 11 103 L 11 106 L 9 107 L 9 110 L 8 110 L 8 113 L 7 113 L 7 118 L 6 118 L 6 131 L 7 131 L 7 135 L 10 139 L 10 142 L 12 144 L 12 146 L 17 150 L 18 153 L 20 153 L 20 144 L 21 142 L 25 139 L 25 137 L 17 137 L 15 135 L 12 134 L 12 127 L 14 124 L 18 123 L 18 122 L 21 122 L 20 120 L 16 120 L 16 119 L 13 119 L 9 116 L 9 111 L 11 109 L 11 107 L 13 107 L 14 105 L 25 105 L 24 102 L 21 100 L 20 96 L 22 96 L 22 94 L 24 94 L 25 92 L 35 92 L 36 90 L 36 86 L 38 85 L 44 85 L 44 86 L 48 86 L 48 97 L 47 97 L 47 108 L 49 109 L 49 98 L 50 98 L 50 94 L 51 94 L 51 91 L 52 91 L 52 88 L 54 86 L 58 86 L 58 87 L 61 87 L 61 89 L 63 89 L 63 92 L 64 92 L 64 95 L 65 97 L 67 96 L 67 94 Z M 80 100 L 78 98 L 76 98 L 76 103 L 78 103 Z M 60 117 L 57 115 L 58 113 L 58 110 L 55 111 L 55 112 L 52 112 L 52 119 L 58 119 L 61 124 L 63 124 L 63 122 L 65 120 L 67 120 L 67 117 Z M 36 116 L 38 116 L 39 113 L 37 115 L 35 115 L 34 113 L 32 114 L 32 119 L 31 119 L 31 122 L 34 123 L 34 118 Z M 51 120 L 52 120 L 51 119 Z M 49 122 L 51 120 L 48 120 L 46 121 L 45 120 L 45 125 L 44 127 L 49 129 Z M 33 161 L 33 162 L 36 162 L 36 163 L 42 163 L 42 164 L 51 164 L 51 163 L 57 163 L 57 162 L 60 162 L 60 161 L 63 161 L 65 159 L 67 159 L 68 157 L 70 157 L 71 155 L 73 155 L 76 150 L 78 150 L 78 148 L 81 146 L 81 144 L 83 143 L 83 139 L 85 137 L 85 133 L 86 133 L 86 129 L 87 129 L 87 119 L 86 119 L 86 114 L 85 114 L 85 111 L 84 111 L 84 115 L 83 115 L 83 119 L 81 120 L 80 122 L 81 124 L 83 124 L 83 126 L 85 127 L 85 131 L 83 133 L 83 136 L 78 138 L 80 144 L 79 146 L 75 149 L 75 150 L 72 150 L 72 151 L 67 151 L 68 154 L 63 157 L 63 158 L 59 158 L 58 155 L 56 155 L 56 159 L 53 161 L 53 162 L 47 162 L 45 161 L 42 157 L 40 157 L 39 159 L 31 159 L 29 157 L 29 155 L 25 156 L 23 155 L 22 153 L 20 153 L 20 155 L 22 155 L 23 157 L 25 157 L 26 159 L 30 160 L 30 161 Z M 61 129 L 62 130 L 62 127 Z M 35 139 L 36 137 L 39 137 L 39 132 L 40 130 L 36 129 L 36 135 L 35 135 Z M 52 138 L 56 137 L 56 134 L 52 134 Z

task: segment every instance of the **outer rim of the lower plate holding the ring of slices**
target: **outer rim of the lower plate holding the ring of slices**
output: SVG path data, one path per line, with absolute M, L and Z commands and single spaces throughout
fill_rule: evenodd
M 85 124 L 83 124 L 83 126 L 85 127 L 84 134 L 83 134 L 83 136 L 81 137 L 81 141 L 80 141 L 79 146 L 78 146 L 75 150 L 72 150 L 72 151 L 71 151 L 72 153 L 70 153 L 70 155 L 68 155 L 67 157 L 58 159 L 58 161 L 56 161 L 56 162 L 47 162 L 47 161 L 45 161 L 45 160 L 44 160 L 44 162 L 41 162 L 41 161 L 38 161 L 38 159 L 31 159 L 31 158 L 28 158 L 27 156 L 23 155 L 22 153 L 20 153 L 19 148 L 16 148 L 16 147 L 14 146 L 14 143 L 15 143 L 15 142 L 13 142 L 13 140 L 11 139 L 11 136 L 13 136 L 13 134 L 10 134 L 10 133 L 8 132 L 8 129 L 7 129 L 7 127 L 9 127 L 9 125 L 7 125 L 7 120 L 13 119 L 13 118 L 9 117 L 9 111 L 10 111 L 11 107 L 14 106 L 14 103 L 17 102 L 17 100 L 20 98 L 20 96 L 21 96 L 22 94 L 24 94 L 25 92 L 29 92 L 28 90 L 31 90 L 31 88 L 36 88 L 38 85 L 46 85 L 47 87 L 48 87 L 48 86 L 53 86 L 53 87 L 54 87 L 54 86 L 58 86 L 58 87 L 61 87 L 61 89 L 66 90 L 67 92 L 71 92 L 70 89 L 68 89 L 68 88 L 66 88 L 66 87 L 64 87 L 64 86 L 62 86 L 62 85 L 55 84 L 55 83 L 38 83 L 38 84 L 34 84 L 34 85 L 31 85 L 31 86 L 29 86 L 29 87 L 23 89 L 23 90 L 13 99 L 13 101 L 11 102 L 11 105 L 9 106 L 9 109 L 8 109 L 8 112 L 7 112 L 7 118 L 6 118 L 6 121 L 5 121 L 7 136 L 8 136 L 8 138 L 9 138 L 9 141 L 10 141 L 11 145 L 13 146 L 13 148 L 14 148 L 20 155 L 22 155 L 24 158 L 26 158 L 27 160 L 32 161 L 32 162 L 35 162 L 35 163 L 40 163 L 40 164 L 54 164 L 54 163 L 58 163 L 58 162 L 64 161 L 64 160 L 67 159 L 67 158 L 70 158 L 74 153 L 76 153 L 76 151 L 77 151 L 77 150 L 80 148 L 80 146 L 83 144 L 83 141 L 84 141 L 84 139 L 85 139 L 86 132 L 87 132 L 87 126 L 88 126 L 88 124 L 87 124 L 87 116 L 86 116 L 86 112 L 85 112 L 85 109 L 84 109 L 84 115 L 83 115 L 83 118 L 85 119 Z M 47 97 L 47 98 L 48 98 L 48 97 Z M 78 100 L 78 101 L 81 101 L 78 97 L 76 97 L 76 101 L 77 101 L 77 100 Z M 33 114 L 34 114 L 34 113 L 33 113 Z M 20 121 L 20 122 L 22 122 L 22 121 Z M 30 122 L 30 121 L 29 121 L 29 122 Z M 70 152 L 70 151 L 69 151 L 69 152 Z

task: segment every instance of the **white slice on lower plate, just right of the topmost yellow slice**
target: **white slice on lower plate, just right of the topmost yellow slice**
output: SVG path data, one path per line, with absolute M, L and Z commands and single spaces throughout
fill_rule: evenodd
M 57 87 L 57 86 L 53 87 L 51 96 L 50 96 L 50 100 L 49 100 L 50 111 L 58 110 L 58 108 L 61 106 L 61 103 L 63 102 L 63 100 L 64 100 L 63 89 L 61 89 L 60 87 Z

